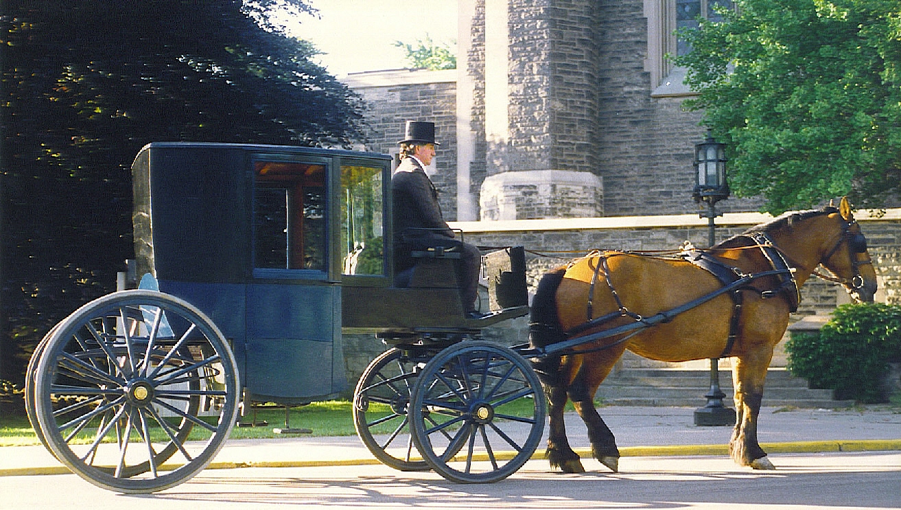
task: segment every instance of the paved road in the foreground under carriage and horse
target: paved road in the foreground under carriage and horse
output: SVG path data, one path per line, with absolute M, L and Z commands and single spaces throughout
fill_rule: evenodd
M 582 475 L 532 460 L 501 482 L 457 485 L 432 472 L 381 465 L 209 469 L 149 496 L 125 496 L 76 475 L 0 477 L 0 509 L 286 510 L 290 508 L 703 508 L 792 510 L 901 507 L 901 452 L 783 454 L 776 471 L 728 458 L 623 458 L 612 474 L 587 460 Z

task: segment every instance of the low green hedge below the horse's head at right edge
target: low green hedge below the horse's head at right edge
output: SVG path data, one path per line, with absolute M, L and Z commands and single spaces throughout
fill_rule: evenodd
M 888 363 L 901 361 L 901 306 L 839 306 L 819 333 L 792 333 L 786 351 L 788 369 L 811 387 L 834 389 L 841 399 L 885 402 Z

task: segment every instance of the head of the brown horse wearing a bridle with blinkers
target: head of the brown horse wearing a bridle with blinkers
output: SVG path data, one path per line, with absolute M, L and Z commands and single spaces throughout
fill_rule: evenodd
M 876 270 L 867 252 L 867 238 L 851 214 L 851 204 L 842 197 L 838 212 L 829 214 L 835 233 L 824 246 L 820 263 L 858 301 L 872 303 L 876 294 Z

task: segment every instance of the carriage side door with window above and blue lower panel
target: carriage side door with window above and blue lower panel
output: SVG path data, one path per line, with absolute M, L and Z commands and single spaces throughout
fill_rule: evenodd
M 259 400 L 302 402 L 347 387 L 341 284 L 329 255 L 330 161 L 297 154 L 252 160 L 245 382 Z

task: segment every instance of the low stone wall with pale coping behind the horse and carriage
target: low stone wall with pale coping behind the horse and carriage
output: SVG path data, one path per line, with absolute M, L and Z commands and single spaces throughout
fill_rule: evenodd
M 869 253 L 879 278 L 877 300 L 901 305 L 901 211 L 890 211 L 882 220 L 863 219 L 857 214 L 861 230 L 869 241 Z M 726 214 L 716 229 L 717 241 L 743 232 L 762 220 L 732 220 L 732 217 L 760 218 L 762 214 Z M 706 246 L 707 227 L 692 215 L 673 217 L 628 218 L 631 224 L 616 223 L 614 219 L 582 218 L 547 222 L 481 222 L 455 223 L 461 227 L 468 242 L 480 246 L 523 245 L 527 252 L 527 283 L 534 291 L 538 280 L 549 269 L 575 259 L 590 250 L 673 250 L 684 241 L 696 246 Z M 632 220 L 634 220 L 632 222 Z M 705 221 L 705 220 L 704 220 Z M 517 225 L 522 225 L 517 227 Z M 546 226 L 547 225 L 547 226 Z M 584 226 L 583 226 L 584 225 Z M 623 226 L 624 225 L 624 226 Z M 642 226 L 649 225 L 649 226 Z M 534 252 L 541 253 L 537 255 Z M 820 269 L 825 272 L 824 269 Z M 791 323 L 811 314 L 830 314 L 836 305 L 850 302 L 845 290 L 832 282 L 810 278 L 801 289 L 802 302 L 798 311 L 789 318 Z M 482 296 L 487 304 L 487 296 Z M 486 328 L 483 335 L 490 340 L 514 345 L 528 342 L 528 318 L 523 317 Z M 369 361 L 384 351 L 385 347 L 372 335 L 345 335 L 344 355 L 347 360 L 348 378 L 355 381 Z M 780 344 L 781 345 L 781 344 Z M 633 366 L 672 366 L 651 362 L 632 356 Z M 785 366 L 785 355 L 780 347 L 773 366 Z M 724 360 L 728 367 L 728 360 Z

